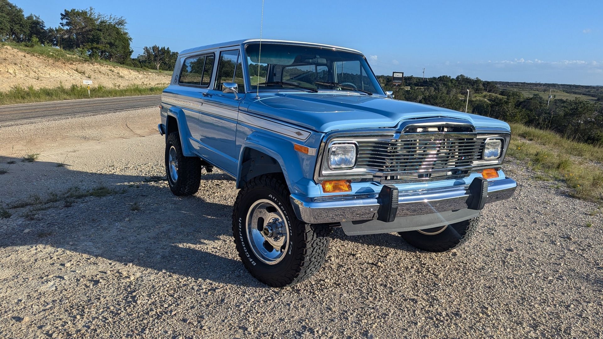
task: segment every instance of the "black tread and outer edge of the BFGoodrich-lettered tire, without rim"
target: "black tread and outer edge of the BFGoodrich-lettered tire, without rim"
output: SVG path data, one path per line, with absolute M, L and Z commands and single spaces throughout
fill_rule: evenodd
M 240 208 L 242 197 L 257 187 L 273 189 L 280 195 L 280 198 L 288 198 L 289 190 L 283 179 L 282 176 L 275 174 L 267 174 L 251 179 L 241 191 L 239 191 L 233 208 L 232 232 L 235 236 L 235 244 L 236 249 L 239 252 L 239 257 L 244 263 L 245 268 L 247 268 L 253 277 L 271 287 L 295 285 L 311 277 L 312 274 L 316 273 L 323 265 L 329 250 L 330 242 L 331 229 L 329 227 L 324 225 L 306 224 L 303 221 L 298 220 L 294 214 L 289 215 L 289 221 L 293 232 L 297 232 L 298 239 L 303 239 L 302 241 L 298 241 L 297 244 L 294 244 L 294 246 L 297 246 L 298 248 L 298 251 L 296 251 L 297 258 L 294 259 L 295 264 L 287 273 L 278 277 L 264 276 L 253 269 L 253 265 L 244 255 L 244 250 L 242 249 L 241 242 L 238 238 L 237 212 Z

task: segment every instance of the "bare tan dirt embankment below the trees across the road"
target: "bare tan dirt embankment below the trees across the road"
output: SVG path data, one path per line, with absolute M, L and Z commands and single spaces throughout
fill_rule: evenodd
M 119 88 L 137 84 L 140 86 L 167 86 L 169 72 L 136 71 L 103 63 L 90 63 L 72 57 L 59 60 L 44 55 L 29 54 L 10 46 L 0 46 L 0 91 L 14 86 L 69 87 L 81 85 L 82 80 L 92 80 L 92 86 Z

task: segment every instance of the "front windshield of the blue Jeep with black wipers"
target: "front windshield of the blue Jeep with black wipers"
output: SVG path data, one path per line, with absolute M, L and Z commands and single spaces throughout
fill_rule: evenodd
M 333 90 L 384 95 L 360 54 L 297 45 L 258 43 L 245 48 L 250 92 Z

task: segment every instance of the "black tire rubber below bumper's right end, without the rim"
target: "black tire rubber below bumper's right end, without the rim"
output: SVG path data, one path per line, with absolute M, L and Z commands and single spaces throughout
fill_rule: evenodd
M 417 247 L 417 249 L 421 249 L 427 252 L 449 252 L 453 249 L 458 249 L 458 247 L 463 246 L 469 238 L 475 233 L 479 224 L 479 216 L 475 218 L 471 218 L 469 220 L 460 221 L 459 223 L 455 223 L 453 225 L 449 225 L 448 227 L 451 230 L 454 230 L 458 236 L 449 237 L 446 241 L 434 242 L 432 244 L 425 244 L 425 242 L 417 241 L 416 237 L 428 237 L 430 235 L 424 235 L 417 231 L 408 231 L 408 232 L 398 232 L 402 238 L 408 242 L 411 246 Z

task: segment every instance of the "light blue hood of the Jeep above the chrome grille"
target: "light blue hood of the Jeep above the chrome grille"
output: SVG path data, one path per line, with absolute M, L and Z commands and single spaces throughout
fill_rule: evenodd
M 466 119 L 475 127 L 509 128 L 506 122 L 485 116 L 376 95 L 262 93 L 260 97 L 249 104 L 249 112 L 324 133 L 353 128 L 395 128 L 406 119 L 438 116 Z

